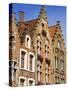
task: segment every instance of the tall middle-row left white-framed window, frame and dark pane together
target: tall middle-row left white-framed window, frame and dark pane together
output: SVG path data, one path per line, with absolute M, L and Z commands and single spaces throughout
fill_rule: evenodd
M 27 69 L 27 51 L 20 49 L 20 68 Z

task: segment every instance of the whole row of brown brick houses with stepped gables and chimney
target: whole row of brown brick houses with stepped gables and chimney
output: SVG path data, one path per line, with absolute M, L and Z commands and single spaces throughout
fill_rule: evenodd
M 45 7 L 34 20 L 24 12 L 9 17 L 9 85 L 32 86 L 66 82 L 66 52 L 59 21 L 48 26 Z

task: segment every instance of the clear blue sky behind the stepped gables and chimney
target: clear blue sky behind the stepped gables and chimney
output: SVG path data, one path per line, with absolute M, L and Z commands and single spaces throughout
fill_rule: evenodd
M 27 21 L 37 18 L 40 12 L 40 8 L 41 5 L 14 3 L 12 11 L 16 13 L 17 21 L 19 19 L 19 11 L 23 11 L 24 20 Z M 9 10 L 11 11 L 11 9 Z M 56 21 L 60 21 L 63 38 L 66 44 L 66 7 L 45 5 L 45 12 L 49 26 L 56 24 Z

